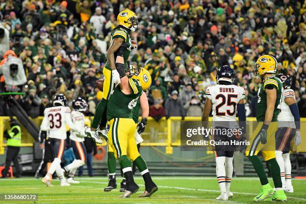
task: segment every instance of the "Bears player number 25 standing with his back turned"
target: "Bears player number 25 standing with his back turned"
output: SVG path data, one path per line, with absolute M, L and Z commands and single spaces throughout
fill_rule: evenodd
M 233 152 L 235 149 L 235 141 L 241 140 L 241 133 L 245 131 L 245 110 L 244 110 L 244 89 L 240 86 L 233 85 L 235 73 L 233 69 L 224 65 L 218 68 L 216 73 L 216 85 L 206 88 L 206 101 L 202 114 L 202 121 L 207 122 L 209 112 L 212 108 L 213 129 L 212 133 L 214 141 L 227 141 L 229 145 L 215 145 L 213 150 L 215 153 L 216 176 L 220 187 L 221 194 L 217 200 L 227 200 L 232 197 L 229 190 L 232 172 L 233 172 Z M 236 109 L 238 111 L 239 124 L 236 122 Z M 238 132 L 240 129 L 240 133 Z M 227 134 L 233 132 L 235 135 Z M 233 130 L 236 129 L 236 132 Z M 233 141 L 234 143 L 231 143 Z

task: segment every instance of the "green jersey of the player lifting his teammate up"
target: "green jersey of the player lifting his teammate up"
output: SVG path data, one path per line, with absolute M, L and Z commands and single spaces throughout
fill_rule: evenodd
M 128 79 L 128 83 L 132 89 L 131 94 L 124 94 L 120 86 L 117 85 L 109 96 L 107 103 L 107 120 L 112 118 L 133 118 L 132 110 L 137 104 L 137 100 L 142 93 L 142 88 L 136 79 Z

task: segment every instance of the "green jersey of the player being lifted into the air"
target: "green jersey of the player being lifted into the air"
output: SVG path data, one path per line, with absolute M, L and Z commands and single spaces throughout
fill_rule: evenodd
M 111 31 L 110 37 L 111 37 L 110 38 L 110 43 L 112 42 L 112 40 L 114 38 L 117 38 L 117 37 L 120 37 L 124 40 L 121 46 L 124 46 L 124 49 L 125 49 L 124 52 L 123 52 L 123 59 L 124 59 L 124 68 L 127 69 L 128 68 L 127 67 L 128 56 L 129 56 L 129 53 L 130 53 L 130 50 L 131 50 L 130 32 L 127 31 L 126 29 L 120 27 L 120 26 L 117 26 Z M 114 60 L 116 60 L 116 57 L 117 57 L 117 53 L 115 52 L 114 53 Z M 110 69 L 110 64 L 109 64 L 108 60 L 105 62 L 104 67 L 107 68 L 107 69 Z

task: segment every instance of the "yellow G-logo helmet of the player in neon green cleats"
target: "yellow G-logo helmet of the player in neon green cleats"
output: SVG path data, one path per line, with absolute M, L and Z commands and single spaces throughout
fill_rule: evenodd
M 276 59 L 268 54 L 259 56 L 256 63 L 254 64 L 254 75 L 263 75 L 265 73 L 276 73 L 277 61 Z

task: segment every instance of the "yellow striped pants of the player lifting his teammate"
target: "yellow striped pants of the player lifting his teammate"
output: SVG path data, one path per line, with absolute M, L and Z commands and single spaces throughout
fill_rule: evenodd
M 134 138 L 136 123 L 131 118 L 113 118 L 109 121 L 108 151 L 114 152 L 116 159 L 127 155 L 130 160 L 140 156 Z

